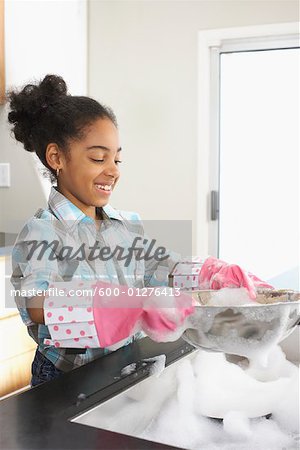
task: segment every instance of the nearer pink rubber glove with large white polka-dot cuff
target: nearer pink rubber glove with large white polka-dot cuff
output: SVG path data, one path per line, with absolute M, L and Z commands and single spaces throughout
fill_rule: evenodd
M 129 295 L 127 286 L 100 281 L 89 283 L 89 286 L 83 286 L 83 282 L 77 285 L 76 282 L 64 284 L 63 296 L 45 298 L 45 324 L 51 335 L 51 339 L 44 340 L 45 345 L 104 348 L 139 331 L 144 331 L 153 340 L 165 342 L 172 340 L 172 333 L 195 310 L 195 301 L 190 295 L 178 291 L 178 296 L 163 295 L 161 290 L 164 287 L 156 287 L 152 292 L 150 289 L 143 289 L 140 293 L 147 295 L 137 296 L 134 289 L 134 295 Z M 53 283 L 50 287 L 58 290 L 62 288 L 62 284 Z M 67 287 L 73 291 L 75 288 L 85 292 L 89 288 L 93 294 L 72 297 Z M 112 292 L 114 288 L 118 288 L 119 295 L 100 294 L 106 293 L 108 288 Z M 155 295 L 154 291 L 159 295 Z

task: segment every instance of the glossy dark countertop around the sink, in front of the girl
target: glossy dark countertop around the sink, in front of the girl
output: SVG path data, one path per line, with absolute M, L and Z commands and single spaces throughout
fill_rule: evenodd
M 149 375 L 151 363 L 120 377 L 133 362 L 165 354 L 166 365 L 194 347 L 182 339 L 156 343 L 144 338 L 131 345 L 0 402 L 0 449 L 174 449 L 119 433 L 70 422 Z M 86 398 L 78 401 L 78 395 Z

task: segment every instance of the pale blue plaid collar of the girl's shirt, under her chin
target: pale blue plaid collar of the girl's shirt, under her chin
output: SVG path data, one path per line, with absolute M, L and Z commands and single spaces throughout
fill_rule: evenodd
M 51 187 L 48 206 L 54 215 L 64 222 L 68 228 L 73 228 L 80 221 L 94 223 L 91 217 L 84 214 L 81 209 L 59 192 L 56 186 Z M 109 204 L 103 206 L 102 211 L 105 218 L 123 221 L 121 214 Z

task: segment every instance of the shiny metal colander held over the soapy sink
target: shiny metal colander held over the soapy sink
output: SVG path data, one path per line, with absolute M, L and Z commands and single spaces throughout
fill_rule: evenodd
M 234 289 L 235 295 L 244 289 Z M 300 321 L 300 294 L 291 290 L 259 290 L 256 302 L 217 306 L 222 291 L 189 292 L 199 306 L 189 318 L 183 339 L 198 348 L 246 358 L 267 355 Z M 224 291 L 224 290 L 223 290 Z

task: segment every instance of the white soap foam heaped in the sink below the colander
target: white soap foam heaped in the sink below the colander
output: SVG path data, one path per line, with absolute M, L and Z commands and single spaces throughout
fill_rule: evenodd
M 286 361 L 279 347 L 270 355 L 271 381 L 265 382 L 253 378 L 253 368 L 250 376 L 250 369 L 247 373 L 226 361 L 224 355 L 201 350 L 197 353 L 192 362 L 182 361 L 173 374 L 177 389 L 139 437 L 187 449 L 298 448 L 299 371 Z M 276 376 L 279 378 L 273 380 Z M 216 383 L 220 382 L 219 387 Z M 161 399 L 163 392 L 157 394 Z M 155 401 L 153 390 L 152 396 Z M 223 415 L 223 423 L 201 412 Z M 267 412 L 272 413 L 270 419 L 249 419 L 251 414 Z

